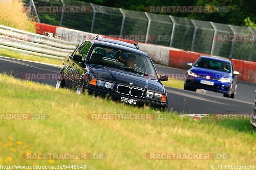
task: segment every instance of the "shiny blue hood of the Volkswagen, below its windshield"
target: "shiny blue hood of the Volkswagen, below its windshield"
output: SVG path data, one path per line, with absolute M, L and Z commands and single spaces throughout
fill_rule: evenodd
M 188 71 L 196 73 L 197 75 L 200 75 L 200 76 L 203 75 L 203 77 L 210 76 L 211 78 L 215 78 L 215 79 L 219 79 L 222 77 L 229 78 L 231 76 L 231 73 L 226 73 L 223 71 L 206 69 L 206 68 L 199 68 L 199 67 L 192 67 Z

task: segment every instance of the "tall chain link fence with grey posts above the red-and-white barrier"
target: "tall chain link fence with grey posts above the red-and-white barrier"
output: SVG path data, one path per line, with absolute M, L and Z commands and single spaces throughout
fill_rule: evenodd
M 129 11 L 74 0 L 24 0 L 24 4 L 30 9 L 35 9 L 33 12 L 36 13 L 38 22 L 46 24 L 120 36 L 124 39 L 226 58 L 256 61 L 254 43 L 256 29 L 251 27 Z M 86 6 L 87 10 L 86 12 L 36 11 L 40 6 Z M 143 36 L 144 38 L 141 38 Z M 236 36 L 238 39 L 235 38 Z M 245 38 L 246 36 L 250 37 L 249 40 Z M 131 37 L 135 38 L 131 39 Z

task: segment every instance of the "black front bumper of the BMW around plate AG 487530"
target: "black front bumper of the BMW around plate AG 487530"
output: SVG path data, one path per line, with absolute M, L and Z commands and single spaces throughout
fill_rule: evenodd
M 85 85 L 85 89 L 87 89 L 87 92 L 89 94 L 93 94 L 95 96 L 101 96 L 103 98 L 106 97 L 107 95 L 109 95 L 111 97 L 111 99 L 118 100 L 118 101 L 121 100 L 121 97 L 134 99 L 134 100 L 137 100 L 136 106 L 144 106 L 144 104 L 146 104 L 146 105 L 150 105 L 150 107 L 164 108 L 164 109 L 167 108 L 167 106 L 168 106 L 167 101 L 152 101 L 152 100 L 145 99 L 143 97 L 136 98 L 136 97 L 132 97 L 130 95 L 117 93 L 114 90 L 108 90 L 105 88 L 101 88 L 101 87 L 93 86 L 93 85 L 89 85 L 89 84 Z

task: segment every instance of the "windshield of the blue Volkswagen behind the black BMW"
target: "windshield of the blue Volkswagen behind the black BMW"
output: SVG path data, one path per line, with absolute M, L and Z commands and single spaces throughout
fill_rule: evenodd
M 195 67 L 218 70 L 230 73 L 230 63 L 214 59 L 199 58 L 194 64 Z

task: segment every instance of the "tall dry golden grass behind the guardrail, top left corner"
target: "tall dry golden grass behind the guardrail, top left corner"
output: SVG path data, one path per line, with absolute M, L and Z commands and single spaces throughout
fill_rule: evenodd
M 35 33 L 33 18 L 28 18 L 20 0 L 0 1 L 0 25 Z

